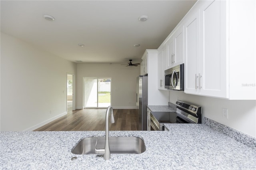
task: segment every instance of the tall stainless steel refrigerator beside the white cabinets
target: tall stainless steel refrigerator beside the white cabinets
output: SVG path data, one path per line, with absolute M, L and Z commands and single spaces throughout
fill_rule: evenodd
M 148 130 L 148 76 L 137 77 L 137 109 L 139 115 L 139 130 Z

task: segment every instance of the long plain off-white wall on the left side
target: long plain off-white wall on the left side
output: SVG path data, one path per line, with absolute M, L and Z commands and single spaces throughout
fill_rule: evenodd
M 34 130 L 66 114 L 67 73 L 75 63 L 1 32 L 1 130 Z

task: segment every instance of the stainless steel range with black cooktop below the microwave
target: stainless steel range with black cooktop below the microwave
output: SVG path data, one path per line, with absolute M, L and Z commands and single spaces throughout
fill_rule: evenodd
M 164 123 L 201 123 L 201 107 L 177 100 L 176 112 L 151 112 L 151 130 L 164 130 Z

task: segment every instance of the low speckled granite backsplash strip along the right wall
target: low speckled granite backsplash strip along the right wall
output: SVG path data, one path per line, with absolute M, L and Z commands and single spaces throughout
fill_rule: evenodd
M 214 130 L 218 130 L 219 132 L 222 132 L 230 136 L 231 138 L 234 138 L 238 142 L 241 142 L 242 144 L 245 144 L 250 148 L 256 149 L 256 138 L 248 134 L 244 134 L 243 132 L 240 132 L 236 129 L 227 127 L 226 125 L 208 119 L 207 117 L 204 117 L 204 125 L 209 126 Z

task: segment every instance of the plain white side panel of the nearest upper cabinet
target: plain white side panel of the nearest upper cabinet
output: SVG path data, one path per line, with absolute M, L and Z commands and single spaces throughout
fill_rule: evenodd
M 256 1 L 227 1 L 229 99 L 256 100 Z

